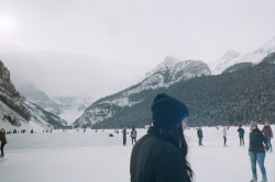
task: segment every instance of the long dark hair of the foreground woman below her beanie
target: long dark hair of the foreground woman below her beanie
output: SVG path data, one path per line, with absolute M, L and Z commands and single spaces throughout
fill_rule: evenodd
M 191 182 L 194 179 L 194 171 L 191 170 L 190 163 L 187 161 L 186 157 L 188 153 L 188 145 L 185 140 L 185 136 L 183 135 L 182 125 L 174 125 L 172 127 L 160 128 L 160 136 L 165 140 L 175 145 L 182 153 L 183 163 L 185 164 L 187 171 L 188 182 Z

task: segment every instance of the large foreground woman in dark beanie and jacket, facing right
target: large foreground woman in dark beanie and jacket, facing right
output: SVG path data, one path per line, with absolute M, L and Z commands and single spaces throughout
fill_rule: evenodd
M 194 172 L 183 134 L 189 115 L 186 105 L 162 93 L 155 96 L 151 112 L 153 126 L 132 149 L 131 182 L 191 182 Z

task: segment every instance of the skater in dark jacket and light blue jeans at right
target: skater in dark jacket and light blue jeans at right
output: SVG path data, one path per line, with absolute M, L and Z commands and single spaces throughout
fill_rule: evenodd
M 260 170 L 262 172 L 262 182 L 267 182 L 264 159 L 265 150 L 268 150 L 270 146 L 267 145 L 263 133 L 257 128 L 257 124 L 255 122 L 250 124 L 250 128 L 251 133 L 249 153 L 253 174 L 251 182 L 257 182 L 256 162 L 258 163 Z

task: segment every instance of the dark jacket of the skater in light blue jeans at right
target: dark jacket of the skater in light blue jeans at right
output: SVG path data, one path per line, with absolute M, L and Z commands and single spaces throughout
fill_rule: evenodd
M 263 135 L 263 133 L 258 128 L 255 128 L 255 129 L 251 130 L 249 151 L 252 151 L 252 152 L 265 152 L 265 148 L 264 148 L 263 143 L 265 145 L 267 143 L 264 135 Z

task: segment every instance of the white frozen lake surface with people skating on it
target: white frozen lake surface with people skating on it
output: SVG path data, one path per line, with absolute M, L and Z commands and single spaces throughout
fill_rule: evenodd
M 250 130 L 248 127 L 244 129 L 244 147 L 239 146 L 237 127 L 228 130 L 228 147 L 223 147 L 222 130 L 216 127 L 202 127 L 202 147 L 198 146 L 196 129 L 185 132 L 196 182 L 251 180 Z M 145 129 L 138 129 L 138 138 L 145 133 Z M 0 182 L 130 181 L 131 138 L 128 136 L 128 145 L 122 146 L 122 134 L 116 134 L 113 129 L 7 134 L 7 139 L 6 157 L 0 159 Z M 275 147 L 274 139 L 272 143 Z M 265 168 L 268 182 L 274 182 L 274 152 L 266 153 Z M 260 170 L 257 173 L 261 179 Z

